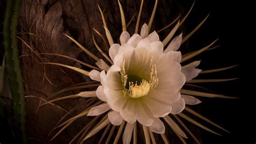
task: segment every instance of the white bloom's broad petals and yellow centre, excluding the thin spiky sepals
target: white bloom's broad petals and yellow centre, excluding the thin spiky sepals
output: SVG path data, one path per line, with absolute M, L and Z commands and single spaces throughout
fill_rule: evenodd
M 102 84 L 96 94 L 105 103 L 92 107 L 88 115 L 110 110 L 108 118 L 112 125 L 120 125 L 123 120 L 127 124 L 138 121 L 152 132 L 161 134 L 165 132 L 165 126 L 159 118 L 180 113 L 185 103 L 194 105 L 200 102 L 192 96 L 180 94 L 185 81 L 200 72 L 194 68 L 199 62 L 181 68 L 181 53 L 177 50 L 182 35 L 174 38 L 164 51 L 157 32 L 147 36 L 147 31 L 146 24 L 140 35 L 130 37 L 124 31 L 120 36 L 121 44 L 113 44 L 109 50 L 113 65 L 109 67 L 103 60 L 96 63 L 103 71 L 92 70 L 89 76 Z

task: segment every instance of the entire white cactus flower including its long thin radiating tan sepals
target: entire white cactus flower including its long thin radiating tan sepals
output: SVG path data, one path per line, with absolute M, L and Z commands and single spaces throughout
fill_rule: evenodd
M 213 93 L 205 93 L 205 92 L 181 89 L 181 87 L 183 87 L 185 83 L 192 83 L 187 85 L 199 87 L 197 85 L 194 85 L 193 83 L 208 83 L 208 82 L 234 80 L 234 79 L 193 79 L 197 77 L 198 74 L 201 72 L 201 70 L 196 68 L 200 64 L 200 61 L 194 61 L 185 66 L 180 65 L 181 62 L 191 59 L 194 56 L 197 56 L 197 54 L 204 52 L 217 41 L 215 40 L 208 46 L 205 46 L 203 49 L 186 54 L 186 56 L 184 56 L 182 59 L 181 59 L 181 53 L 177 51 L 181 43 L 184 43 L 188 38 L 190 38 L 190 36 L 192 36 L 193 33 L 199 29 L 200 25 L 204 23 L 204 21 L 208 16 L 192 32 L 188 33 L 188 35 L 184 39 L 182 38 L 182 34 L 180 34 L 179 36 L 173 38 L 173 40 L 170 42 L 174 33 L 176 33 L 179 26 L 184 22 L 186 17 L 189 15 L 190 11 L 193 8 L 193 5 L 194 5 L 193 4 L 191 9 L 188 11 L 187 15 L 181 20 L 181 22 L 178 22 L 176 26 L 174 26 L 174 28 L 170 31 L 169 35 L 166 36 L 163 42 L 160 42 L 156 31 L 148 35 L 148 32 L 150 31 L 152 26 L 154 14 L 156 12 L 157 3 L 158 1 L 156 1 L 154 5 L 149 26 L 144 24 L 140 31 L 140 35 L 134 34 L 132 35 L 132 37 L 130 37 L 130 34 L 127 32 L 124 11 L 122 9 L 122 5 L 118 1 L 120 15 L 122 19 L 122 29 L 123 29 L 123 33 L 120 35 L 120 44 L 114 44 L 111 33 L 107 29 L 103 12 L 99 8 L 100 14 L 102 15 L 105 32 L 106 32 L 106 38 L 109 41 L 109 45 L 111 46 L 109 49 L 109 57 L 104 53 L 104 51 L 100 49 L 100 47 L 95 41 L 94 35 L 92 35 L 92 39 L 98 51 L 103 55 L 103 57 L 107 61 L 109 61 L 109 63 L 111 64 L 110 66 L 106 64 L 104 60 L 99 59 L 97 56 L 95 56 L 93 53 L 91 53 L 89 50 L 87 50 L 85 47 L 79 44 L 75 39 L 73 39 L 68 35 L 66 36 L 69 37 L 73 42 L 75 42 L 80 47 L 80 49 L 82 49 L 84 52 L 86 52 L 89 56 L 91 56 L 93 59 L 97 61 L 96 65 L 99 68 L 89 64 L 81 63 L 81 61 L 79 60 L 76 60 L 76 61 L 82 65 L 93 68 L 93 70 L 91 72 L 88 72 L 80 68 L 68 66 L 64 64 L 44 63 L 44 64 L 53 64 L 53 65 L 70 68 L 72 70 L 85 74 L 86 76 L 89 76 L 92 80 L 99 81 L 101 84 L 99 85 L 99 83 L 96 82 L 96 84 L 85 85 L 86 87 L 98 86 L 96 91 L 85 91 L 76 95 L 69 95 L 63 98 L 57 98 L 55 100 L 46 102 L 46 103 L 49 103 L 57 100 L 76 98 L 76 97 L 84 97 L 84 98 L 97 97 L 98 99 L 101 100 L 93 104 L 94 107 L 89 107 L 90 109 L 89 108 L 85 109 L 85 111 L 81 112 L 76 116 L 73 116 L 72 118 L 70 118 L 69 120 L 65 121 L 63 124 L 60 125 L 60 126 L 63 126 L 66 124 L 65 125 L 66 127 L 70 125 L 74 120 L 86 114 L 89 116 L 95 116 L 95 115 L 101 115 L 103 113 L 108 112 L 107 115 L 105 115 L 104 118 L 100 120 L 98 125 L 92 128 L 92 130 L 88 134 L 86 134 L 85 137 L 84 137 L 84 134 L 88 131 L 90 127 L 85 126 L 85 128 L 83 128 L 80 131 L 80 132 L 84 131 L 84 134 L 81 137 L 83 138 L 81 143 L 83 143 L 83 141 L 90 138 L 92 135 L 96 134 L 97 132 L 100 131 L 100 129 L 103 129 L 106 126 L 105 131 L 101 136 L 99 142 L 102 141 L 106 132 L 110 128 L 110 125 L 109 125 L 110 122 L 114 126 L 120 125 L 116 138 L 114 139 L 114 143 L 117 143 L 117 141 L 119 140 L 119 137 L 123 132 L 125 123 L 126 123 L 126 126 L 123 133 L 123 143 L 130 143 L 132 133 L 133 133 L 133 141 L 137 141 L 137 128 L 136 128 L 137 123 L 135 123 L 136 121 L 139 122 L 140 126 L 143 125 L 143 133 L 145 136 L 146 143 L 149 143 L 150 139 L 154 143 L 155 141 L 154 141 L 154 138 L 153 138 L 154 136 L 152 132 L 159 133 L 159 134 L 165 133 L 165 126 L 159 118 L 163 118 L 167 122 L 167 124 L 171 127 L 173 132 L 178 135 L 179 139 L 185 142 L 183 138 L 187 138 L 186 134 L 183 132 L 183 130 L 181 130 L 181 128 L 176 124 L 176 122 L 172 120 L 169 114 L 170 115 L 174 114 L 173 115 L 174 118 L 177 119 L 177 121 L 179 121 L 181 126 L 183 126 L 186 129 L 186 131 L 192 136 L 192 138 L 197 143 L 200 143 L 200 142 L 196 138 L 196 136 L 194 136 L 193 133 L 190 132 L 190 130 L 183 124 L 183 122 L 175 114 L 178 114 L 180 117 L 205 129 L 208 132 L 218 134 L 212 131 L 211 129 L 199 124 L 199 122 L 197 122 L 196 120 L 193 120 L 192 118 L 185 115 L 184 113 L 181 113 L 184 109 L 185 111 L 193 115 L 196 115 L 198 118 L 205 120 L 206 122 L 212 124 L 213 126 L 226 131 L 226 129 L 208 120 L 207 118 L 200 115 L 199 113 L 194 112 L 192 109 L 185 107 L 185 105 L 186 104 L 196 105 L 201 102 L 200 100 L 192 97 L 191 95 L 195 95 L 199 97 L 210 97 L 210 98 L 214 98 L 214 97 L 232 98 L 232 97 L 226 97 L 224 95 L 213 94 Z M 135 33 L 138 33 L 139 20 L 140 20 L 140 15 L 142 13 L 142 7 L 143 7 L 143 1 L 140 5 Z M 176 18 L 176 20 L 177 19 L 178 18 Z M 176 20 L 174 20 L 174 22 Z M 168 26 L 166 26 L 161 30 L 164 30 L 167 27 Z M 97 30 L 95 29 L 93 30 L 102 37 L 102 35 Z M 103 37 L 102 39 L 105 43 L 106 40 Z M 169 42 L 170 44 L 167 45 Z M 105 46 L 106 48 L 108 48 L 108 45 L 106 43 L 105 43 Z M 164 50 L 164 47 L 166 47 L 165 50 Z M 62 56 L 62 55 L 58 54 L 57 56 Z M 67 56 L 63 56 L 63 57 L 67 58 Z M 204 72 L 201 72 L 201 74 L 219 72 L 219 71 L 227 70 L 228 68 L 232 68 L 232 67 L 234 66 L 218 68 L 215 70 L 206 70 Z M 103 71 L 100 72 L 100 69 Z M 184 95 L 184 94 L 190 94 L 190 95 Z M 93 103 L 95 99 L 91 99 L 91 100 L 92 101 L 90 102 L 90 104 Z M 91 122 L 95 122 L 97 118 L 98 116 L 93 118 Z M 55 138 L 61 131 L 63 131 L 65 127 L 60 129 L 60 131 L 53 138 Z M 113 130 L 114 130 L 114 127 L 112 127 L 111 132 L 113 132 Z M 75 138 L 80 134 L 80 132 L 75 136 Z M 110 133 L 107 139 L 111 138 L 111 135 L 112 133 Z M 167 139 L 165 138 L 165 136 L 164 135 L 161 135 L 161 136 L 163 140 L 167 143 L 166 141 Z

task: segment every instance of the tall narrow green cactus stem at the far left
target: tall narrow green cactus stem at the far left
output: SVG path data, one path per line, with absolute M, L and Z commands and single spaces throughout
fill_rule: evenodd
M 6 70 L 8 72 L 9 83 L 12 94 L 12 104 L 14 112 L 14 125 L 16 128 L 15 138 L 19 143 L 26 143 L 25 133 L 25 100 L 24 86 L 19 66 L 17 26 L 21 0 L 8 0 L 6 3 L 4 17 L 4 49 Z

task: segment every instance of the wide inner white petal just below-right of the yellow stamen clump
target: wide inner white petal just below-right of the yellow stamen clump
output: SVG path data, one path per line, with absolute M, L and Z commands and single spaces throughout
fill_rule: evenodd
M 171 94 L 169 94 L 169 97 L 168 97 L 169 99 L 171 99 L 170 95 Z M 158 95 L 154 95 L 154 97 L 158 97 Z M 169 100 L 166 100 L 166 101 L 169 101 Z M 171 104 L 168 104 L 166 101 L 161 102 L 159 100 L 152 99 L 152 97 L 151 98 L 146 97 L 143 99 L 144 104 L 147 107 L 149 107 L 154 118 L 163 117 L 165 115 L 168 115 L 171 112 L 172 106 Z

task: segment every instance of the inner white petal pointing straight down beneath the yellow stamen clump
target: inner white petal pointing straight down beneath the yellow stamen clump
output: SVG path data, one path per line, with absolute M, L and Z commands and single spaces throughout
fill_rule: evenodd
M 147 109 L 145 109 L 143 107 L 142 101 L 136 101 L 135 104 L 135 118 L 139 121 L 140 124 L 144 125 L 144 126 L 150 126 L 153 123 L 153 118 L 151 113 L 149 113 L 149 111 L 147 111 Z

